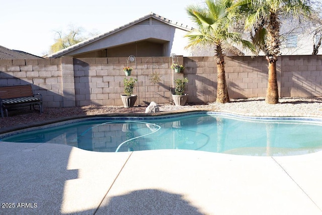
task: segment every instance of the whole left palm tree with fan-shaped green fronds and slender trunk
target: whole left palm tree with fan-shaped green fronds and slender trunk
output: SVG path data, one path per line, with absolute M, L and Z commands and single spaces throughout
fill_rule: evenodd
M 214 45 L 217 62 L 217 98 L 216 102 L 229 102 L 228 88 L 225 78 L 224 47 L 231 43 L 241 44 L 244 48 L 255 51 L 255 46 L 243 40 L 241 34 L 230 32 L 229 27 L 236 21 L 239 9 L 234 0 L 206 0 L 206 7 L 188 6 L 186 11 L 189 18 L 197 25 L 186 37 L 187 47 L 197 44 Z

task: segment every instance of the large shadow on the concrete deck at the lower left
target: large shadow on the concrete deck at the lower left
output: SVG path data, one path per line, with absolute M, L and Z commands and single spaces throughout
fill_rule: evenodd
M 66 168 L 71 147 L 43 146 L 0 142 L 0 201 L 15 204 L 1 208 L 1 214 L 60 211 L 65 183 L 77 179 L 78 170 Z

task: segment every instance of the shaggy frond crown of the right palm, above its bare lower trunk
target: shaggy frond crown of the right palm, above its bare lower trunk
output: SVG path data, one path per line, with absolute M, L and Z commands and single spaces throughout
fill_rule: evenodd
M 309 16 L 311 8 L 306 2 L 305 0 L 239 0 L 238 5 L 247 16 L 245 28 L 255 32 L 252 38 L 254 45 L 267 51 L 269 55 L 275 55 L 279 53 L 279 17 Z M 273 31 L 274 33 L 270 33 Z M 267 36 L 268 34 L 270 36 Z

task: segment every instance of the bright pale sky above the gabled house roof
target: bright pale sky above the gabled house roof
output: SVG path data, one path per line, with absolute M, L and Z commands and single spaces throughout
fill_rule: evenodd
M 2 0 L 0 45 L 43 56 L 55 43 L 55 32 L 69 26 L 105 33 L 153 12 L 189 27 L 186 7 L 201 0 Z

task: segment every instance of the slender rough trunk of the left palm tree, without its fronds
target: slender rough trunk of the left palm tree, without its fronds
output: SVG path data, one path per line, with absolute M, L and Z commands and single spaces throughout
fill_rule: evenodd
M 218 103 L 229 102 L 228 87 L 225 76 L 224 55 L 217 55 L 217 99 Z

